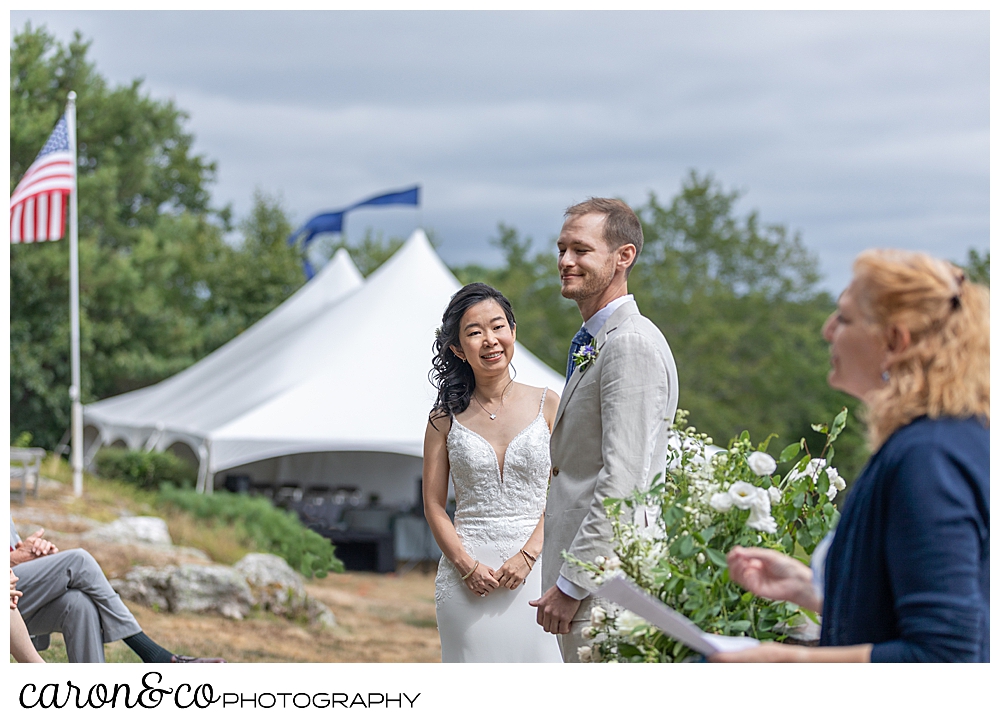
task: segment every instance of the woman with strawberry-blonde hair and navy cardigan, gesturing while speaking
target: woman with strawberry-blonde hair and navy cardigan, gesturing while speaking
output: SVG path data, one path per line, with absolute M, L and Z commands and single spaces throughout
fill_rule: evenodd
M 754 594 L 821 612 L 820 647 L 711 660 L 989 662 L 989 291 L 925 254 L 866 251 L 823 335 L 873 455 L 811 570 L 773 550 L 728 557 Z

